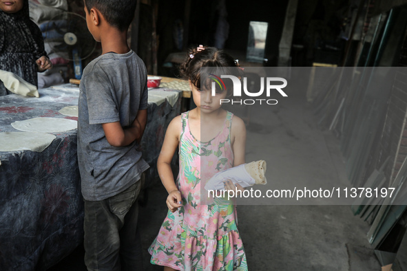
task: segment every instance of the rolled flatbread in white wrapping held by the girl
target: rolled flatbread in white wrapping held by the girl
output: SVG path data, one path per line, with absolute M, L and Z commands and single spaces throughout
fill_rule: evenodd
M 241 164 L 225 171 L 220 171 L 213 175 L 205 185 L 208 190 L 223 190 L 223 182 L 231 180 L 233 184 L 240 184 L 242 187 L 253 186 L 254 184 L 267 184 L 266 180 L 267 164 L 264 160 Z

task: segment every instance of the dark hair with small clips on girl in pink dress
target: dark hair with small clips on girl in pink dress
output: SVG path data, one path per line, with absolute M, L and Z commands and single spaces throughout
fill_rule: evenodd
M 229 74 L 236 77 L 242 77 L 242 70 L 237 69 L 239 63 L 235 61 L 225 51 L 216 47 L 205 47 L 205 50 L 198 52 L 194 47 L 190 50 L 189 54 L 185 58 L 184 63 L 180 65 L 180 76 L 185 80 L 191 80 L 191 82 L 198 88 L 201 86 L 201 80 L 206 85 L 207 74 L 201 74 L 202 67 L 213 67 L 208 69 L 215 71 L 216 74 Z M 207 70 L 207 69 L 205 69 Z M 225 80 L 225 84 L 229 80 Z M 230 94 L 231 87 L 227 86 L 228 94 Z

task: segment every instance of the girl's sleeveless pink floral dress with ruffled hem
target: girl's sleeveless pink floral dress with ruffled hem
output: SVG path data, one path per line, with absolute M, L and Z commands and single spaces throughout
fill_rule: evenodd
M 188 113 L 181 117 L 180 171 L 176 180 L 182 206 L 175 213 L 168 210 L 149 248 L 151 263 L 176 270 L 247 270 L 233 203 L 220 199 L 222 204 L 200 204 L 201 178 L 209 180 L 218 171 L 233 166 L 230 140 L 233 114 L 227 112 L 216 138 L 200 142 L 189 130 Z

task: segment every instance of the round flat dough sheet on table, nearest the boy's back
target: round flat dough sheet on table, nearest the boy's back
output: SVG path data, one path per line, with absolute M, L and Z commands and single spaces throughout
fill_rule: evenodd
M 78 122 L 66 118 L 30 118 L 12 122 L 11 125 L 14 129 L 25 132 L 60 133 L 76 129 Z

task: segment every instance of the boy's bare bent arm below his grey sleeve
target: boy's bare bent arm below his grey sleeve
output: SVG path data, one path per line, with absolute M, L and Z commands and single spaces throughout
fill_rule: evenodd
M 114 147 L 124 147 L 134 140 L 140 141 L 147 123 L 147 109 L 139 110 L 131 127 L 123 129 L 120 122 L 103 123 L 106 139 Z

